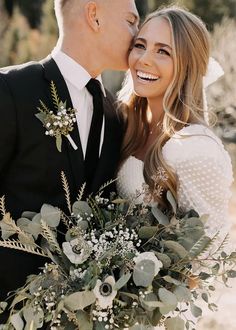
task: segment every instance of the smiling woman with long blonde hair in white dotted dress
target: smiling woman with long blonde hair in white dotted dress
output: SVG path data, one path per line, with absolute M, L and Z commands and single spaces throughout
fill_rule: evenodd
M 134 92 L 127 98 L 127 85 L 120 92 L 126 134 L 117 185 L 131 198 L 146 182 L 163 207 L 170 190 L 182 209 L 209 215 L 213 235 L 229 227 L 233 177 L 229 155 L 208 126 L 209 43 L 203 22 L 178 7 L 152 13 L 141 26 L 129 56 Z

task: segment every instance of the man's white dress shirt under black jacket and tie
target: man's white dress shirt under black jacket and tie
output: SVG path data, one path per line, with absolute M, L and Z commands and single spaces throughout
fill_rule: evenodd
M 78 125 L 83 155 L 85 158 L 89 129 L 93 115 L 93 98 L 85 86 L 92 77 L 80 64 L 78 64 L 71 57 L 63 53 L 61 50 L 54 49 L 51 55 L 54 61 L 56 62 L 63 78 L 65 79 L 73 107 L 77 110 L 76 119 L 77 119 L 77 125 Z M 106 92 L 102 83 L 101 76 L 98 76 L 96 79 L 100 82 L 102 92 L 104 96 L 106 96 Z M 100 138 L 100 152 L 103 143 L 103 137 L 104 137 L 104 116 L 103 116 L 103 124 L 101 130 L 101 138 Z

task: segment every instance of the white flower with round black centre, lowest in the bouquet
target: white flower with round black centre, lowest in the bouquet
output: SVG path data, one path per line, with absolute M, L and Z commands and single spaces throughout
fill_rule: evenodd
M 97 280 L 93 293 L 102 309 L 112 306 L 112 301 L 117 294 L 117 290 L 114 290 L 115 283 L 113 276 L 108 276 L 103 282 Z

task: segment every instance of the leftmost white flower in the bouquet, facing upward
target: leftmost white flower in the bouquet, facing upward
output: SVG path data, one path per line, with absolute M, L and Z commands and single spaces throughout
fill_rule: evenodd
M 90 256 L 91 250 L 88 247 L 81 247 L 79 240 L 73 239 L 70 242 L 62 243 L 62 249 L 72 264 L 80 265 Z

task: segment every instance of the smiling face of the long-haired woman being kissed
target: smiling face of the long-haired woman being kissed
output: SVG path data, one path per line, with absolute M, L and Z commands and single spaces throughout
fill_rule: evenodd
M 172 33 L 165 18 L 152 18 L 141 28 L 130 52 L 129 66 L 135 93 L 162 100 L 174 75 Z

